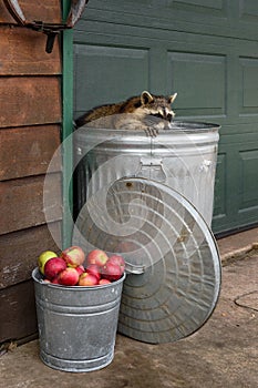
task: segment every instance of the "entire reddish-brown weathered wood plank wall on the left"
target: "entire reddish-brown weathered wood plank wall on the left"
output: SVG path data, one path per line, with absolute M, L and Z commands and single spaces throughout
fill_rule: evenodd
M 28 20 L 60 22 L 60 1 L 20 0 Z M 55 40 L 18 27 L 0 0 L 0 343 L 37 333 L 31 270 L 58 249 L 43 211 L 44 174 L 61 139 L 61 54 Z M 51 227 L 61 235 L 61 156 L 51 171 Z

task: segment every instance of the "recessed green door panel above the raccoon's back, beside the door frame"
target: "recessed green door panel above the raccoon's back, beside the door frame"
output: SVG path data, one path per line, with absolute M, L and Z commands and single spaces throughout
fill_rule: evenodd
M 148 50 L 75 45 L 75 108 L 83 113 L 148 89 Z M 142 71 L 138 72 L 138 69 Z M 89 91 L 89 93 L 85 93 Z

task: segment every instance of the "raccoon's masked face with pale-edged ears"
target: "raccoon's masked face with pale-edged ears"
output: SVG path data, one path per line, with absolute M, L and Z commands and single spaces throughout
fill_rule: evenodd
M 172 121 L 175 116 L 171 104 L 175 101 L 177 93 L 164 96 L 164 95 L 152 95 L 148 92 L 143 92 L 141 95 L 141 110 L 144 114 L 149 114 L 163 120 Z

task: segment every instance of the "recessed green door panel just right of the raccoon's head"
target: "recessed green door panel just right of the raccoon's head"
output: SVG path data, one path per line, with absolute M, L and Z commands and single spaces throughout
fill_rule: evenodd
M 225 114 L 225 57 L 172 52 L 168 64 L 169 84 L 178 92 L 177 114 Z

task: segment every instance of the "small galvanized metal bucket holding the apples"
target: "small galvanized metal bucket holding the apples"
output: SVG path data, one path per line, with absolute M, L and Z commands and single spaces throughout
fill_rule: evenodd
M 73 372 L 97 370 L 112 363 L 125 275 L 95 287 L 48 284 L 38 268 L 32 278 L 42 361 Z

